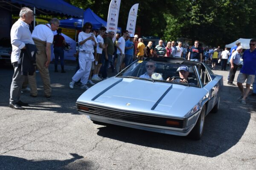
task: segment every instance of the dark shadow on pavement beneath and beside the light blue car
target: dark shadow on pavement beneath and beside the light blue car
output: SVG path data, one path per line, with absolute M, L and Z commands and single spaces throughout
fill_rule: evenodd
M 223 91 L 233 90 L 237 92 L 237 87 L 223 87 Z M 99 127 L 98 135 L 146 147 L 215 157 L 239 142 L 250 121 L 250 112 L 247 108 L 249 105 L 237 102 L 235 96 L 239 96 L 238 94 L 233 92 L 230 96 L 221 96 L 219 111 L 207 115 L 204 134 L 199 141 L 116 125 Z M 235 101 L 230 100 L 233 98 Z M 227 107 L 228 105 L 230 107 Z

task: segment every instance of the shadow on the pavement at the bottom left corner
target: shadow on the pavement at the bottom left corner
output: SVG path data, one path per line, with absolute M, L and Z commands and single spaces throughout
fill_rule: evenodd
M 67 160 L 27 160 L 16 156 L 0 156 L 1 170 L 89 170 L 92 163 L 84 160 L 84 158 L 76 153 L 70 153 L 73 156 Z

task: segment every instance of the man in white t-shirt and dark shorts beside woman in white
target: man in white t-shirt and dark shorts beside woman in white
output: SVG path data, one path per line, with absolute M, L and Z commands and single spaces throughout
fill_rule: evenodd
M 96 58 L 95 58 L 95 66 L 94 66 L 93 77 L 92 77 L 92 80 L 95 80 L 95 81 L 102 80 L 101 78 L 99 78 L 98 74 L 99 74 L 99 69 L 102 66 L 102 49 L 105 48 L 104 40 L 103 40 L 102 36 L 105 34 L 106 31 L 107 31 L 107 28 L 104 26 L 99 28 L 99 35 L 96 38 L 98 45 L 96 48 L 97 54 L 96 54 Z

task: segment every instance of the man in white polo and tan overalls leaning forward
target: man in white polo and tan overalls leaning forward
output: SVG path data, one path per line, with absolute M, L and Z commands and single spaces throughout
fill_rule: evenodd
M 40 24 L 35 27 L 32 38 L 35 42 L 38 52 L 36 54 L 36 66 L 41 75 L 44 85 L 44 95 L 51 97 L 52 89 L 49 76 L 49 64 L 51 62 L 51 45 L 53 42 L 53 33 L 58 29 L 60 21 L 57 18 L 52 18 L 46 25 Z M 30 96 L 36 97 L 38 94 L 35 73 L 29 76 Z

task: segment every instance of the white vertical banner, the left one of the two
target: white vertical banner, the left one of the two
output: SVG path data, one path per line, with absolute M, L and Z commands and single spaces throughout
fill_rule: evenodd
M 121 3 L 121 0 L 111 0 L 109 4 L 107 32 L 114 31 L 114 33 L 116 34 L 120 3 Z M 116 36 L 113 37 L 113 41 L 115 40 L 115 38 Z

